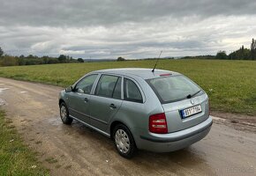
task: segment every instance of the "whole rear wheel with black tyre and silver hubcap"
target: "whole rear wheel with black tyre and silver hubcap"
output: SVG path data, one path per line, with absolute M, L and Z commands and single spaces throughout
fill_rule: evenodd
M 130 130 L 123 124 L 118 124 L 113 131 L 114 144 L 117 152 L 124 158 L 132 158 L 137 151 L 136 143 Z

